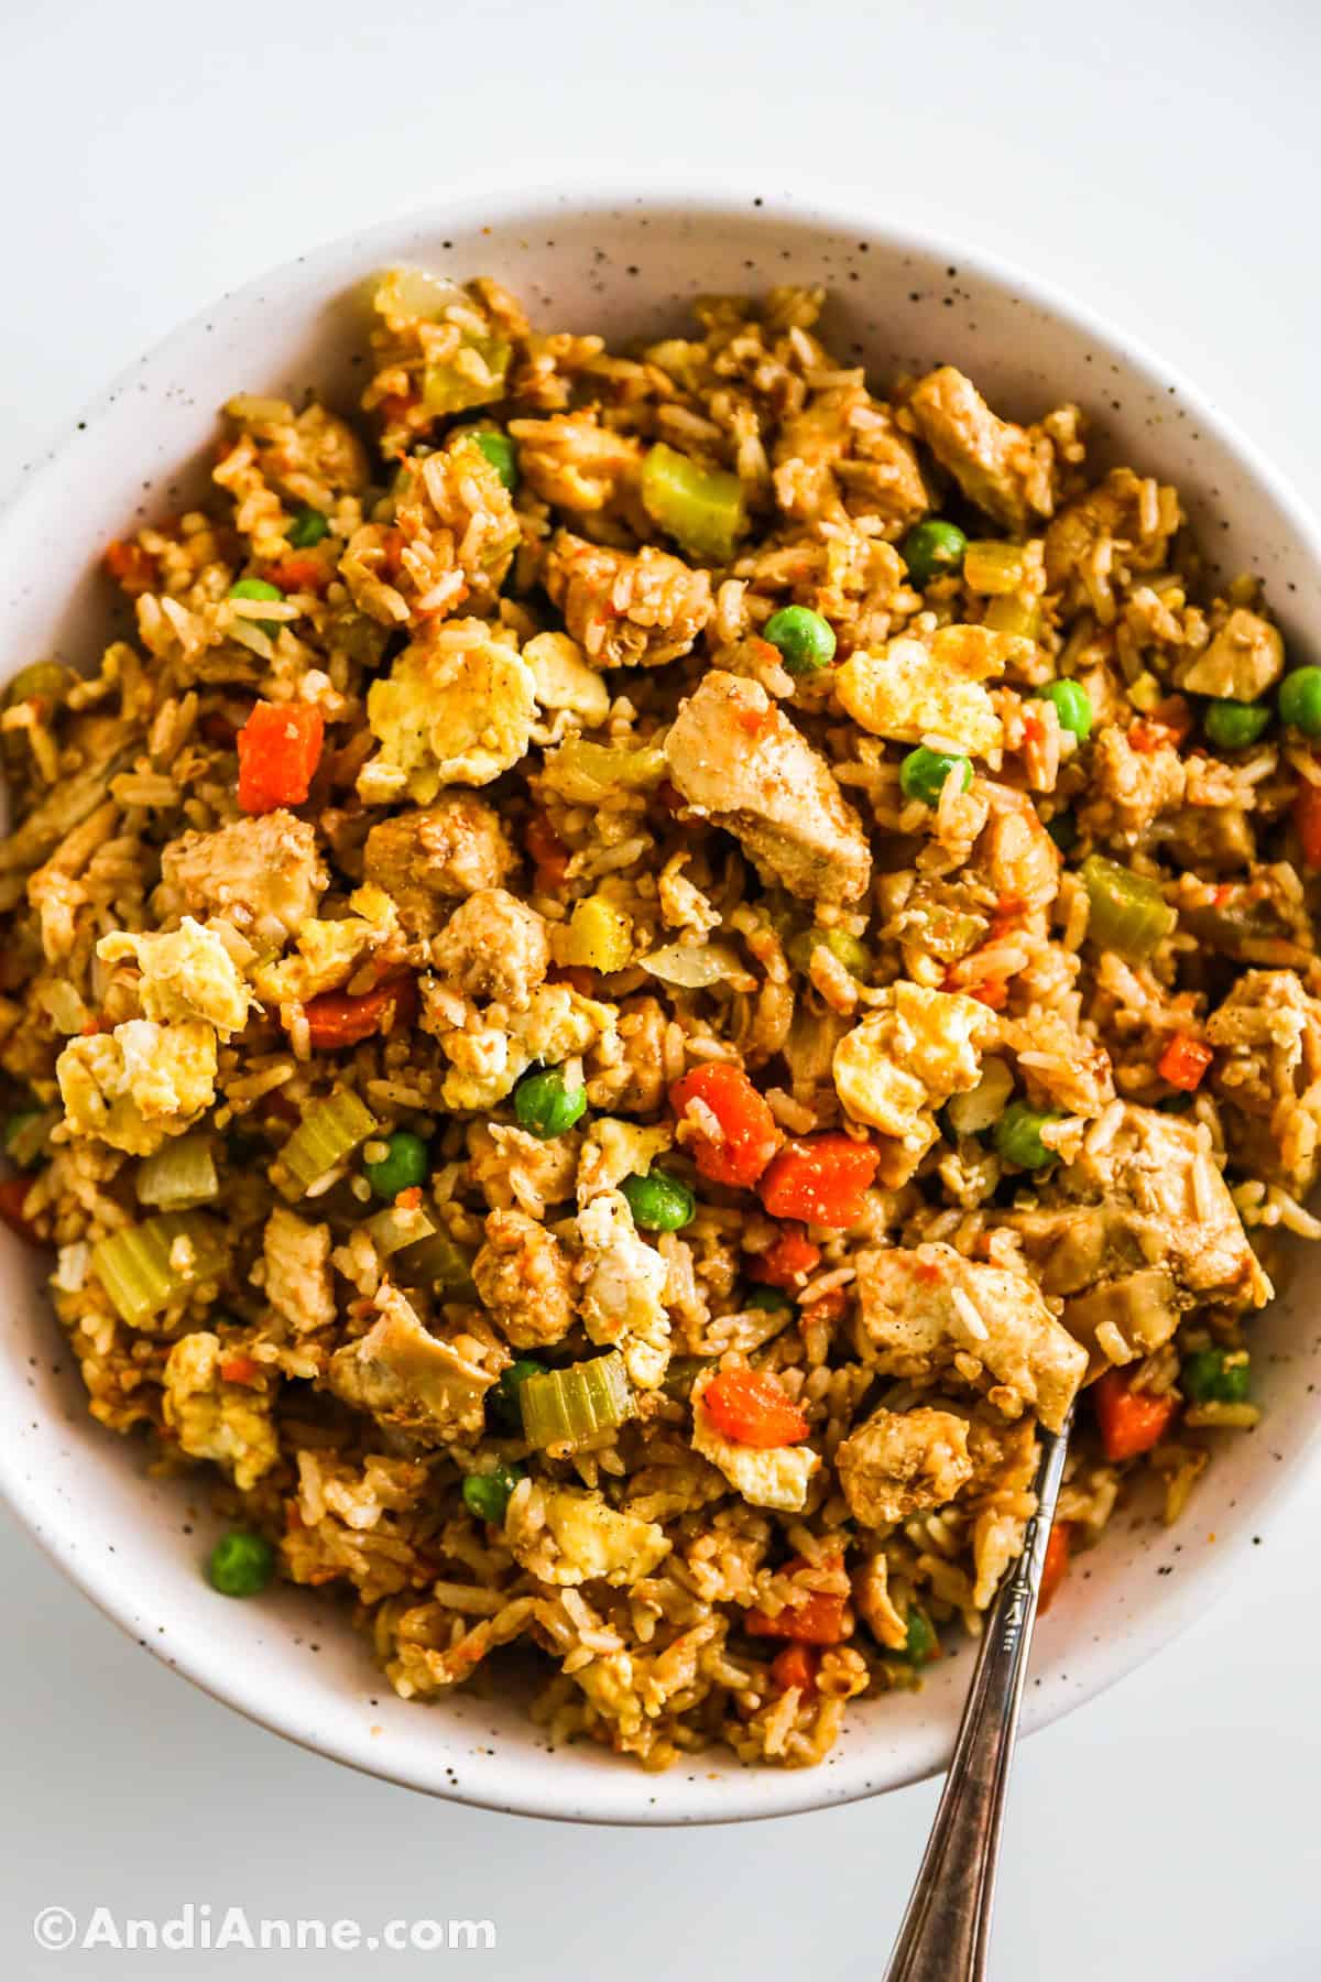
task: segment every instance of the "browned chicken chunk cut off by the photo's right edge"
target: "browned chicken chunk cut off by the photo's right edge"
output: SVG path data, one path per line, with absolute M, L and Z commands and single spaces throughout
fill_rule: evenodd
M 1246 971 L 1206 1039 L 1234 1157 L 1305 1197 L 1321 1175 L 1321 1001 L 1293 971 Z

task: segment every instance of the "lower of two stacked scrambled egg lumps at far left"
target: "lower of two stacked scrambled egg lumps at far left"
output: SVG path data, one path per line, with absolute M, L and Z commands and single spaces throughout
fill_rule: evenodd
M 69 1128 L 127 1156 L 152 1156 L 216 1098 L 216 1033 L 200 1019 L 129 1019 L 71 1039 L 55 1062 Z

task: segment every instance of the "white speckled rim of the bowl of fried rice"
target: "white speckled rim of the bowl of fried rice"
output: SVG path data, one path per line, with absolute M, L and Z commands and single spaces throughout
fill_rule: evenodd
M 440 230 L 442 220 L 454 228 L 475 228 L 481 224 L 507 226 L 517 220 L 537 222 L 545 218 L 553 222 L 555 218 L 562 218 L 566 210 L 574 218 L 600 214 L 606 220 L 620 218 L 630 208 L 646 208 L 693 216 L 709 224 L 780 220 L 832 232 L 856 230 L 860 240 L 883 242 L 887 252 L 939 258 L 941 262 L 957 264 L 961 272 L 974 274 L 980 281 L 1020 295 L 1040 313 L 1083 331 L 1097 351 L 1121 363 L 1145 385 L 1172 390 L 1178 402 L 1196 414 L 1202 428 L 1270 494 L 1321 569 L 1321 523 L 1311 505 L 1293 488 L 1293 482 L 1240 430 L 1232 416 L 1222 412 L 1214 400 L 1190 383 L 1180 365 L 1159 357 L 1143 337 L 1121 331 L 1089 303 L 1073 299 L 1064 287 L 1030 274 L 1012 258 L 976 246 L 941 226 L 927 228 L 891 218 L 893 200 L 864 200 L 820 174 L 794 174 L 792 186 L 772 186 L 770 174 L 749 168 L 723 172 L 721 176 L 723 186 L 713 192 L 709 174 L 695 166 L 667 166 L 658 176 L 622 170 L 618 165 L 578 165 L 557 170 L 553 186 L 529 192 L 523 170 L 489 170 L 471 180 L 461 194 L 378 216 L 372 222 L 317 240 L 299 254 L 285 256 L 238 287 L 212 297 L 162 333 L 139 357 L 131 359 L 81 410 L 75 410 L 71 418 L 55 428 L 50 440 L 8 478 L 0 488 L 0 555 L 12 517 L 26 505 L 44 480 L 55 472 L 79 434 L 91 430 L 109 414 L 115 400 L 137 381 L 139 373 L 154 367 L 158 359 L 168 355 L 176 343 L 184 343 L 194 335 L 216 311 L 250 305 L 259 299 L 265 285 L 277 281 L 299 264 L 343 260 L 358 246 L 366 260 L 370 244 L 378 236 L 402 230 Z M 610 190 L 602 190 L 602 184 Z M 1321 1421 L 1305 1435 L 1291 1465 L 1277 1471 L 1271 1469 L 1268 1477 L 1270 1485 L 1254 1500 L 1254 1522 L 1262 1520 L 1268 1508 L 1303 1490 L 1307 1477 L 1317 1471 L 1321 1471 Z M 133 1592 L 121 1588 L 115 1578 L 115 1556 L 83 1552 L 77 1546 L 73 1534 L 61 1528 L 59 1494 L 51 1492 L 42 1498 L 40 1485 L 22 1475 L 18 1451 L 10 1449 L 10 1441 L 0 1441 L 0 1496 L 46 1556 L 105 1617 L 119 1625 L 135 1643 L 145 1643 L 162 1665 L 188 1679 L 198 1691 L 242 1712 L 244 1718 L 257 1726 L 279 1734 L 283 1740 L 305 1748 L 309 1754 L 341 1762 L 360 1774 L 394 1782 L 402 1788 L 444 1798 L 446 1802 L 568 1823 L 622 1823 L 638 1827 L 743 1823 L 806 1814 L 810 1810 L 832 1810 L 929 1780 L 943 1772 L 949 1760 L 949 1746 L 953 1746 L 951 1736 L 949 1746 L 929 1752 L 915 1764 L 901 1764 L 883 1782 L 862 1780 L 865 1776 L 864 1766 L 852 1772 L 858 1780 L 848 1786 L 836 1786 L 824 1768 L 749 1770 L 751 1782 L 759 1784 L 753 1796 L 741 1790 L 741 1774 L 735 1772 L 725 1778 L 721 1810 L 697 1808 L 693 1800 L 693 1808 L 687 1814 L 683 1810 L 658 1812 L 646 1808 L 644 1792 L 650 1778 L 642 1770 L 626 1766 L 620 1766 L 618 1772 L 602 1770 L 600 1794 L 596 1796 L 584 1792 L 582 1782 L 578 1782 L 574 1794 L 580 1808 L 564 1810 L 562 1798 L 555 1790 L 559 1778 L 553 1756 L 547 1758 L 551 1764 L 547 1768 L 523 1770 L 517 1794 L 501 1796 L 497 1786 L 491 1786 L 491 1790 L 479 1788 L 481 1774 L 485 1772 L 469 1776 L 459 1786 L 436 1782 L 422 1766 L 408 1768 L 398 1762 L 378 1760 L 372 1754 L 370 1736 L 356 1730 L 353 1716 L 345 1716 L 341 1726 L 325 1734 L 299 1732 L 293 1710 L 271 1703 L 267 1697 L 269 1689 L 261 1683 L 252 1683 L 244 1667 L 222 1667 L 222 1659 L 208 1657 L 204 1651 L 182 1651 L 182 1647 L 156 1641 L 154 1637 L 143 1639 L 133 1613 Z M 1159 1619 L 1153 1617 L 1145 1627 L 1139 1621 L 1125 1635 L 1089 1645 L 1083 1657 L 1083 1677 L 1069 1685 L 1067 1693 L 1064 1687 L 1030 1689 L 1022 1707 L 1020 1734 L 1034 1734 L 1050 1726 L 1066 1712 L 1117 1685 L 1149 1657 L 1180 1637 L 1194 1619 L 1202 1617 L 1224 1596 L 1242 1562 L 1252 1556 L 1248 1526 L 1250 1522 L 1244 1514 L 1214 1554 L 1198 1562 L 1194 1574 L 1180 1578 L 1172 1588 L 1167 1586 L 1159 1605 Z M 487 1760 L 487 1770 L 491 1766 L 499 1766 L 495 1758 Z M 772 1778 L 770 1784 L 766 1776 Z M 592 1804 L 594 1808 L 588 1808 Z M 638 1808 L 630 1808 L 634 1804 Z

